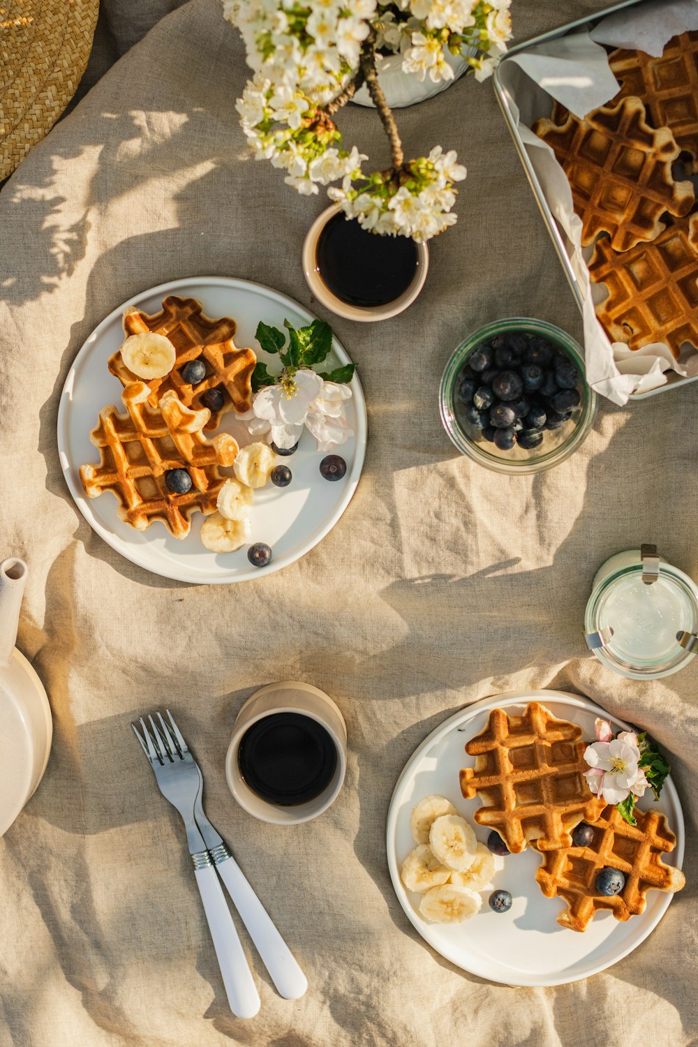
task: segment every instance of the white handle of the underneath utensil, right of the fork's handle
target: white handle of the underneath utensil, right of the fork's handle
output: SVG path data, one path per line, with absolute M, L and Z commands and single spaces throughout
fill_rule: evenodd
M 247 928 L 271 980 L 287 1000 L 297 1000 L 308 988 L 308 979 L 276 930 L 269 913 L 250 887 L 245 873 L 225 844 L 211 851 L 218 874 Z

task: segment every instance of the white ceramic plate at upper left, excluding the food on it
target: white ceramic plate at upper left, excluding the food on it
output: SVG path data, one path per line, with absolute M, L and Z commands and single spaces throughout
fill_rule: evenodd
M 98 462 L 90 443 L 90 430 L 106 404 L 121 405 L 121 383 L 107 370 L 107 360 L 123 339 L 121 314 L 126 306 L 138 306 L 148 313 L 162 308 L 167 294 L 198 298 L 207 316 L 232 316 L 238 324 L 235 342 L 251 346 L 257 358 L 271 371 L 278 361 L 258 348 L 254 332 L 260 320 L 282 328 L 288 318 L 294 327 L 310 324 L 315 317 L 297 302 L 261 284 L 227 276 L 195 276 L 174 280 L 125 302 L 99 324 L 87 339 L 73 362 L 63 387 L 59 405 L 58 440 L 61 465 L 75 505 L 104 540 L 132 563 L 183 582 L 238 582 L 271 574 L 303 556 L 335 526 L 346 509 L 361 475 L 366 446 L 366 406 L 359 379 L 352 381 L 352 398 L 346 401 L 346 420 L 355 436 L 337 448 L 346 462 L 342 480 L 329 482 L 319 472 L 322 455 L 310 432 L 300 438 L 295 454 L 279 459 L 289 466 L 293 480 L 289 487 L 272 484 L 255 491 L 251 541 L 271 545 L 273 558 L 266 567 L 254 567 L 247 558 L 247 545 L 234 553 L 211 553 L 201 543 L 199 532 L 205 518 L 195 513 L 192 530 L 183 540 L 174 538 L 160 521 L 148 531 L 136 531 L 119 519 L 116 498 L 105 492 L 87 498 L 80 478 L 85 462 Z M 340 343 L 333 341 L 327 370 L 351 360 Z M 234 419 L 234 411 L 223 416 L 219 431 L 231 432 L 242 445 L 251 443 L 246 427 Z M 231 469 L 222 469 L 232 474 Z

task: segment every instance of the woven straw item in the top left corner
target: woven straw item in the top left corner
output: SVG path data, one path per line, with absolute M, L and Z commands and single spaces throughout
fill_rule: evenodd
M 0 0 L 0 179 L 77 90 L 98 6 L 98 0 Z

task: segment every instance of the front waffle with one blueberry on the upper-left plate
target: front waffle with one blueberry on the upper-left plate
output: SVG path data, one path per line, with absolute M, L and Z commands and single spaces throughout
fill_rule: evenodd
M 81 466 L 80 476 L 89 498 L 112 491 L 122 520 L 144 531 L 162 520 L 175 538 L 189 533 L 197 510 L 212 513 L 226 477 L 219 466 L 231 466 L 238 443 L 227 432 L 207 440 L 202 429 L 209 411 L 190 410 L 171 389 L 160 408 L 148 403 L 150 388 L 134 382 L 123 389 L 126 415 L 105 407 L 90 440 L 100 449 L 97 465 Z M 165 483 L 168 469 L 186 469 L 193 481 L 186 494 L 175 494 Z

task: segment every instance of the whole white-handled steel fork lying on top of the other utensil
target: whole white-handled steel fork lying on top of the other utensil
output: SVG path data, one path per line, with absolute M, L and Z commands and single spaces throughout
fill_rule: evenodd
M 150 730 L 142 716 L 140 731 L 135 723 L 131 727 L 155 773 L 158 788 L 165 800 L 179 811 L 184 822 L 194 875 L 213 939 L 230 1009 L 239 1018 L 253 1018 L 260 1009 L 260 994 L 216 874 L 213 860 L 194 816 L 194 807 L 201 789 L 199 770 L 193 760 L 181 758 L 177 747 L 171 740 L 172 735 L 165 721 L 159 713 L 157 715 L 159 725 L 152 716 L 148 717 Z

